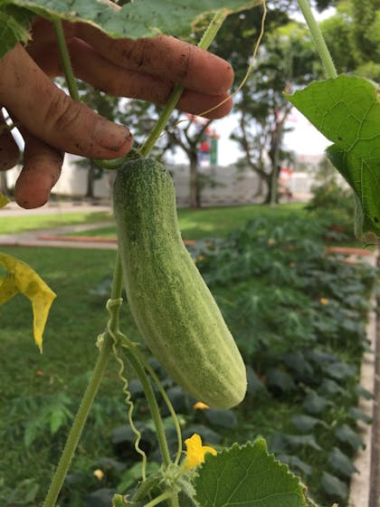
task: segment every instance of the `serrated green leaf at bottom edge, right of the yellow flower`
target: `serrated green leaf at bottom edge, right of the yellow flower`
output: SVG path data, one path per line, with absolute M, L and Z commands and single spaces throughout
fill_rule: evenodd
M 205 462 L 195 477 L 196 500 L 202 507 L 307 507 L 305 488 L 280 464 L 262 438 L 233 445 Z

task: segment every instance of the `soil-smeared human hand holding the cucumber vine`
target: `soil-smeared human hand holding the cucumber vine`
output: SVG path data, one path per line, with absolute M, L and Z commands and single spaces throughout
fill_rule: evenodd
M 229 63 L 174 37 L 112 39 L 90 24 L 64 23 L 75 75 L 116 97 L 165 104 L 174 83 L 184 86 L 178 109 L 199 114 L 228 98 L 233 82 Z M 62 75 L 52 24 L 37 18 L 33 39 L 0 60 L 0 107 L 23 135 L 24 168 L 14 188 L 25 208 L 43 206 L 61 172 L 64 152 L 89 158 L 126 155 L 133 138 L 128 128 L 105 120 L 71 100 L 51 78 Z M 229 99 L 210 112 L 221 118 Z M 0 170 L 17 163 L 18 148 L 0 114 Z

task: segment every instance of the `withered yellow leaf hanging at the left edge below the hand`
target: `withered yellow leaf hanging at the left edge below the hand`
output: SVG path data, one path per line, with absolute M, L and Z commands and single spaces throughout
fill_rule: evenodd
M 43 350 L 43 330 L 56 295 L 43 279 L 28 266 L 11 255 L 0 253 L 0 264 L 8 274 L 0 285 L 0 304 L 21 292 L 32 303 L 33 335 L 39 349 Z

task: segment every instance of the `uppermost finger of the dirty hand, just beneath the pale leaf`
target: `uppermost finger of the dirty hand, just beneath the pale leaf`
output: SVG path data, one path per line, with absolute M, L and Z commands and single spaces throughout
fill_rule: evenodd
M 90 24 L 77 24 L 76 35 L 105 59 L 130 71 L 147 72 L 192 91 L 220 95 L 233 84 L 233 68 L 222 58 L 168 35 L 112 39 Z

